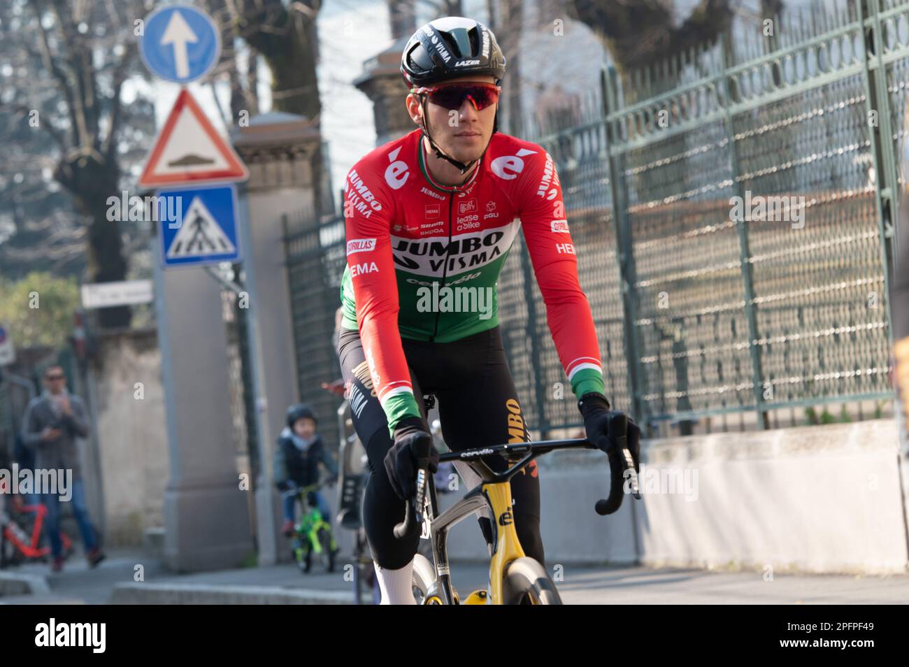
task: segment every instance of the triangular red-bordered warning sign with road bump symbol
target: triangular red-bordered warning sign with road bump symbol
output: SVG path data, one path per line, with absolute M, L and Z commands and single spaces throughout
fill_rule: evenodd
M 245 181 L 245 164 L 234 149 L 215 131 L 205 113 L 185 88 L 139 177 L 140 187 L 157 185 Z

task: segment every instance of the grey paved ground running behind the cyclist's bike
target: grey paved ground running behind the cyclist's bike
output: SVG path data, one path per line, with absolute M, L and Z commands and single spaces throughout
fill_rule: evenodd
M 134 581 L 137 564 L 145 569 L 145 582 Z M 140 554 L 115 553 L 95 570 L 83 562 L 53 575 L 45 565 L 16 568 L 11 573 L 45 577 L 48 590 L 0 597 L 0 602 L 345 604 L 353 602 L 353 584 L 345 581 L 344 565 L 340 559 L 331 574 L 302 574 L 294 564 L 283 564 L 179 575 Z M 452 574 L 455 588 L 465 596 L 485 587 L 488 570 L 481 563 L 453 562 Z M 762 572 L 566 565 L 564 581 L 556 583 L 566 604 L 909 603 L 905 575 L 784 574 L 765 582 Z

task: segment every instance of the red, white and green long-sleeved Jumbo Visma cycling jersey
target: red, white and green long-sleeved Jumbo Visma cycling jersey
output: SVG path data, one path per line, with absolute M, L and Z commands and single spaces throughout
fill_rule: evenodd
M 552 157 L 495 133 L 470 180 L 452 188 L 429 175 L 421 137 L 366 154 L 345 183 L 342 326 L 360 332 L 389 429 L 420 416 L 402 337 L 449 343 L 496 326 L 495 284 L 519 229 L 574 394 L 604 393 Z

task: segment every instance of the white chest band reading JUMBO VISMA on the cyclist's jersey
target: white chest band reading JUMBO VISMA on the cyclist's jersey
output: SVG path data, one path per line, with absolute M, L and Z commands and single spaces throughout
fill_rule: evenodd
M 415 274 L 442 275 L 484 266 L 508 252 L 517 235 L 518 221 L 493 229 L 444 237 L 409 239 L 392 236 L 395 264 Z

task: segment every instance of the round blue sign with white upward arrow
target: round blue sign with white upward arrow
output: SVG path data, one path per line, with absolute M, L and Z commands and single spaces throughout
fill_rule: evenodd
M 208 74 L 221 55 L 221 34 L 211 16 L 189 5 L 166 5 L 145 18 L 139 53 L 148 70 L 178 84 Z

